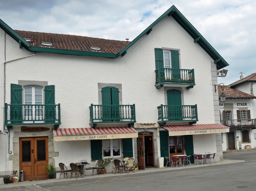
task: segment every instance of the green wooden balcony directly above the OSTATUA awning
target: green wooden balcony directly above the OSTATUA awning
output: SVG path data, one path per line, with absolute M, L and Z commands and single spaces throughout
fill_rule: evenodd
M 189 122 L 195 124 L 198 121 L 197 105 L 160 105 L 157 107 L 159 125 L 167 122 Z

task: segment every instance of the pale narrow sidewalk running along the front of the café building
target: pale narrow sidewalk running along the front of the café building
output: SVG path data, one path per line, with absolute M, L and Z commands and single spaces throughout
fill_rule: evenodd
M 177 168 L 148 168 L 146 170 L 136 170 L 135 173 L 133 172 L 129 172 L 128 173 L 122 173 L 122 174 L 112 174 L 112 173 L 107 173 L 105 175 L 90 175 L 88 177 L 85 178 L 55 178 L 55 179 L 47 179 L 47 180 L 42 180 L 42 181 L 25 181 L 25 182 L 19 182 L 19 183 L 12 183 L 12 184 L 1 184 L 0 185 L 0 189 L 1 188 L 13 188 L 13 187 L 21 187 L 21 186 L 36 186 L 38 184 L 45 184 L 45 183 L 53 183 L 53 182 L 64 182 L 64 181 L 74 181 L 74 180 L 85 180 L 85 179 L 90 179 L 90 178 L 103 178 L 103 177 L 112 177 L 112 176 L 133 176 L 133 174 L 143 174 L 143 173 L 147 173 L 147 172 L 161 172 L 161 171 L 167 171 L 167 170 L 180 170 L 180 169 L 188 169 L 188 168 L 199 168 L 199 167 L 206 167 L 206 166 L 214 166 L 214 165 L 221 165 L 221 164 L 231 164 L 231 163 L 237 163 L 237 162 L 244 162 L 241 160 L 223 160 L 223 161 L 217 161 L 216 163 L 211 163 L 211 164 L 205 164 L 205 165 L 197 165 L 197 164 L 192 164 L 192 166 L 190 165 L 186 165 L 186 167 L 177 167 Z

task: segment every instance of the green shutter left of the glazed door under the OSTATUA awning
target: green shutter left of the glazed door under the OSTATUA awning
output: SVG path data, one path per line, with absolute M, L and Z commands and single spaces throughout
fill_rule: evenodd
M 160 152 L 161 157 L 170 157 L 169 154 L 169 136 L 168 131 L 159 131 L 159 137 L 160 137 Z M 164 166 L 166 166 L 166 158 L 163 160 Z

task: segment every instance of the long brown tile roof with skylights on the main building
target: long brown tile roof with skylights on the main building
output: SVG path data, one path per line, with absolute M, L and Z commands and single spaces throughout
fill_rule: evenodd
M 48 47 L 54 49 L 79 50 L 89 52 L 119 53 L 127 44 L 126 41 L 92 38 L 86 36 L 63 35 L 45 32 L 15 30 L 22 38 L 30 38 L 30 46 Z M 42 42 L 52 43 L 53 46 L 42 46 Z M 99 47 L 100 51 L 90 47 Z

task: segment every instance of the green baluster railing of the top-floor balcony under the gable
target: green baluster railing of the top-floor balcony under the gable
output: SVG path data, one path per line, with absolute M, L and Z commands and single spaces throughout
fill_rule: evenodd
M 195 85 L 194 69 L 157 68 L 155 83 Z

